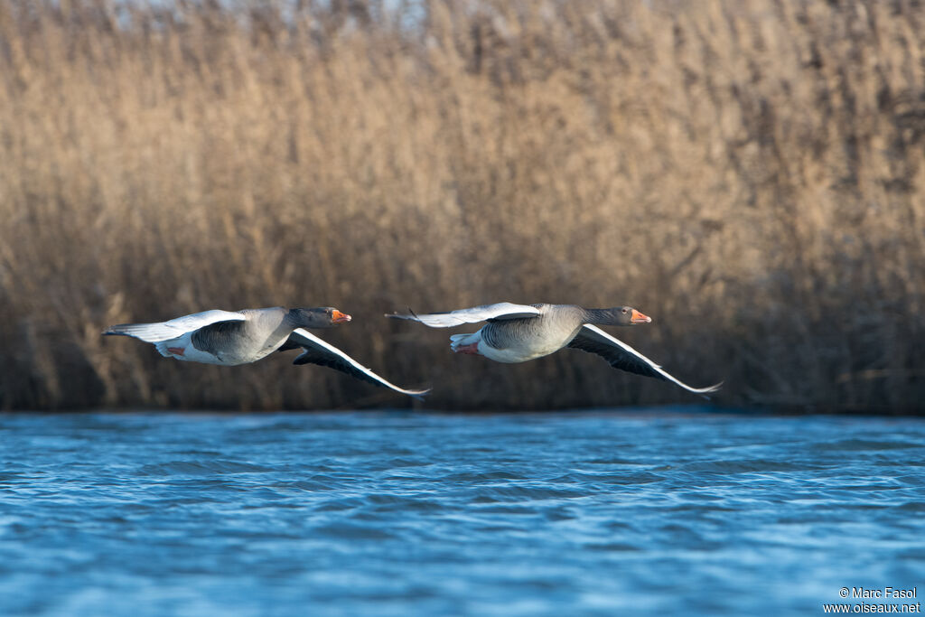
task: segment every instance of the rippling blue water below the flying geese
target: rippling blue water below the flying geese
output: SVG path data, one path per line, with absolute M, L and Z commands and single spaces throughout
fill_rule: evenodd
M 823 614 L 925 594 L 923 465 L 921 419 L 6 414 L 0 614 Z

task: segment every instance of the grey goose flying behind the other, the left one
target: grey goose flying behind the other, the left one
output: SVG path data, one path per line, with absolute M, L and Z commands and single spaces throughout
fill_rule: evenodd
M 331 307 L 286 309 L 275 306 L 203 311 L 153 324 L 119 324 L 107 327 L 103 334 L 152 343 L 166 358 L 222 366 L 248 364 L 277 350 L 302 348 L 292 364 L 321 364 L 415 398 L 430 391 L 399 388 L 304 329 L 332 327 L 350 320 L 350 315 Z

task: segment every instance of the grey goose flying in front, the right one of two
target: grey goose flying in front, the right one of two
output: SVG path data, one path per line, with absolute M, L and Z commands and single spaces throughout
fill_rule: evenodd
M 707 388 L 693 388 L 670 375 L 642 353 L 598 326 L 648 324 L 651 317 L 632 306 L 588 309 L 576 304 L 514 304 L 499 302 L 447 313 L 417 315 L 387 314 L 394 319 L 410 319 L 429 327 L 456 327 L 487 321 L 477 332 L 450 336 L 450 349 L 456 353 L 483 355 L 502 363 L 520 363 L 571 347 L 597 353 L 614 368 L 637 375 L 671 381 L 688 392 L 706 398 L 720 389 L 722 382 Z

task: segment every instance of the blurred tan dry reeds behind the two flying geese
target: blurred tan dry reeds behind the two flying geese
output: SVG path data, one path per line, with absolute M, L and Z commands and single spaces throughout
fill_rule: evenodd
M 0 0 L 4 408 L 410 404 L 100 336 L 277 304 L 430 406 L 698 401 L 382 317 L 507 300 L 632 304 L 722 404 L 921 410 L 923 293 L 915 0 Z

